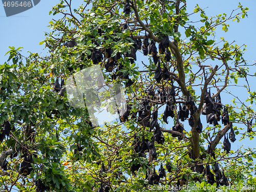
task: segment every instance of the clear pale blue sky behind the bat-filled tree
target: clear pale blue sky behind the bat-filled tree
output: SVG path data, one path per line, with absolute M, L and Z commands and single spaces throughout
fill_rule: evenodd
M 15 48 L 23 47 L 22 54 L 28 56 L 27 51 L 42 53 L 42 55 L 47 54 L 47 50 L 43 50 L 44 45 L 39 45 L 41 40 L 44 40 L 45 32 L 49 32 L 50 28 L 47 26 L 52 18 L 58 19 L 62 17 L 61 14 L 57 14 L 55 16 L 49 15 L 49 11 L 51 8 L 56 5 L 59 0 L 41 0 L 38 5 L 25 11 L 23 13 L 6 17 L 4 12 L 4 7 L 0 6 L 0 24 L 1 24 L 1 49 L 0 49 L 0 64 L 2 65 L 5 61 L 7 61 L 8 56 L 4 56 L 7 51 L 9 51 L 9 46 L 14 46 Z M 77 8 L 83 1 L 75 0 L 72 3 L 72 8 Z M 200 7 L 206 8 L 205 12 L 208 16 L 214 16 L 217 14 L 226 13 L 229 15 L 233 9 L 236 9 L 239 2 L 244 7 L 248 7 L 248 18 L 245 17 L 241 19 L 240 23 L 237 22 L 228 22 L 230 25 L 228 32 L 222 31 L 221 27 L 217 29 L 217 35 L 215 38 L 220 39 L 220 37 L 224 37 L 229 42 L 236 40 L 237 45 L 247 45 L 247 51 L 244 54 L 244 58 L 248 60 L 249 64 L 254 63 L 256 60 L 255 54 L 255 45 L 256 38 L 254 36 L 255 33 L 255 18 L 256 18 L 256 1 L 237 1 L 237 0 L 216 0 L 216 1 L 187 1 L 187 12 L 192 13 L 196 4 L 199 4 Z M 198 19 L 197 14 L 191 15 L 191 18 L 196 22 Z M 197 24 L 196 24 L 197 25 Z M 138 61 L 139 62 L 139 59 Z M 250 71 L 251 74 L 256 72 L 255 68 Z M 255 78 L 255 77 L 253 77 Z M 249 80 L 252 80 L 250 78 Z M 243 81 L 239 82 L 241 85 L 244 84 Z M 255 90 L 255 84 L 251 83 L 251 90 Z M 241 97 L 242 99 L 247 98 L 247 94 L 244 92 L 238 92 L 233 90 L 234 94 Z M 246 92 L 245 92 L 246 93 Z M 231 96 L 227 93 L 223 93 L 222 95 L 223 103 L 228 103 L 232 99 Z M 228 96 L 228 97 L 225 97 Z M 201 117 L 204 118 L 204 117 Z M 169 119 L 170 121 L 170 119 Z M 203 123 L 203 122 L 202 122 Z M 204 123 L 203 123 L 204 124 Z M 169 126 L 169 125 L 168 125 Z M 171 125 L 172 126 L 172 125 Z M 244 125 L 241 125 L 245 127 Z M 166 126 L 167 128 L 167 126 Z M 246 130 L 244 130 L 246 131 Z M 242 131 L 242 132 L 244 132 Z M 245 146 L 254 147 L 255 144 L 252 144 L 252 141 L 247 139 L 246 141 L 238 141 L 239 137 L 237 136 L 237 141 L 231 143 L 231 149 L 236 150 L 239 145 L 245 144 Z M 223 139 L 222 139 L 223 141 Z

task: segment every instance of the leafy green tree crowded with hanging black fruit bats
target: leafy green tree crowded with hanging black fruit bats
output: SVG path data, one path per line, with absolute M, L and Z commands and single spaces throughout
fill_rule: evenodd
M 71 2 L 50 11 L 63 14 L 40 42 L 50 56 L 24 57 L 10 47 L 0 67 L 2 190 L 163 191 L 160 186 L 185 185 L 206 191 L 212 185 L 254 191 L 255 152 L 230 150 L 228 138 L 255 135 L 256 93 L 247 80 L 255 63 L 243 58 L 244 45 L 214 38 L 217 27 L 227 32 L 228 22 L 239 22 L 248 8 L 239 4 L 230 16 L 208 17 L 197 5 L 197 28 L 186 1 L 87 1 L 73 11 Z M 140 67 L 136 54 L 143 57 Z M 102 78 L 84 72 L 97 66 Z M 232 103 L 222 103 L 223 90 L 241 79 L 248 99 L 230 92 Z M 99 84 L 113 87 L 89 89 Z M 120 84 L 126 108 L 119 105 Z M 100 106 L 119 118 L 96 126 L 90 112 Z M 245 133 L 239 123 L 248 126 Z

